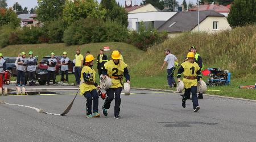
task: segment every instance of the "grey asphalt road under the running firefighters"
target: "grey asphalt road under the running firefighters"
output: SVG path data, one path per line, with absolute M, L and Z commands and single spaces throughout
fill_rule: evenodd
M 77 97 L 67 116 L 40 114 L 30 108 L 0 105 L 0 141 L 255 141 L 256 103 L 204 97 L 181 107 L 179 94 L 131 90 L 122 95 L 121 119 L 85 118 L 85 98 Z M 75 91 L 57 95 L 0 96 L 7 103 L 61 113 Z

